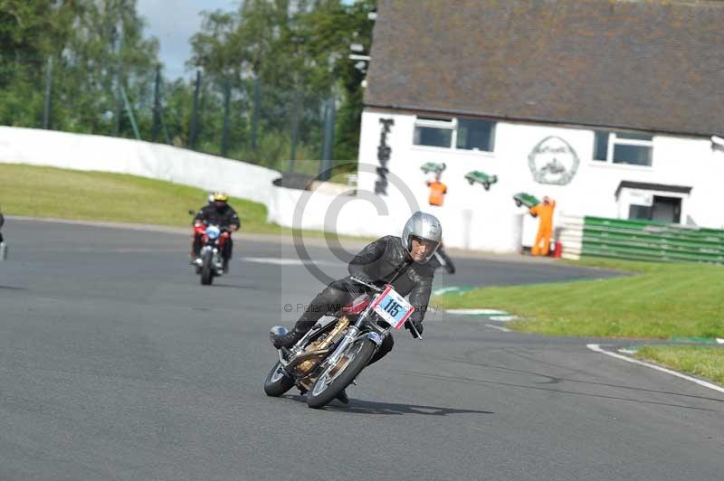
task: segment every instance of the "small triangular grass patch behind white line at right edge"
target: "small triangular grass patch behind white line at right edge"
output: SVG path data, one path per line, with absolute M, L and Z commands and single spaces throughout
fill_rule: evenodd
M 635 356 L 724 385 L 724 348 L 721 347 L 645 345 Z

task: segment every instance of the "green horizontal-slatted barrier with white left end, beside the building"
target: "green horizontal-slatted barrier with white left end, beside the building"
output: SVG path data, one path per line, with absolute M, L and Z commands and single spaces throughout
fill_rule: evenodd
M 724 231 L 649 221 L 563 216 L 562 257 L 724 264 Z

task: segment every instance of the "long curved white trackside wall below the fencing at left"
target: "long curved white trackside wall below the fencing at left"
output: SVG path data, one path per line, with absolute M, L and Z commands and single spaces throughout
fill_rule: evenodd
M 0 127 L 0 162 L 133 174 L 268 204 L 277 171 L 126 138 Z

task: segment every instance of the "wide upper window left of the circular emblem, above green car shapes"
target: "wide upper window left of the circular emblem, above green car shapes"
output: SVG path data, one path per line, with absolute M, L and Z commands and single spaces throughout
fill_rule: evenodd
M 492 152 L 495 122 L 472 118 L 418 117 L 414 122 L 415 146 Z

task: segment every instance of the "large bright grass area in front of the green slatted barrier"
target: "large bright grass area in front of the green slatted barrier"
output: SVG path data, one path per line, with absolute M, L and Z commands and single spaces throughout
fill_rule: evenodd
M 436 301 L 445 308 L 507 310 L 521 319 L 509 323 L 511 328 L 542 335 L 724 337 L 724 267 L 607 259 L 572 264 L 633 275 L 481 288 L 443 295 Z

